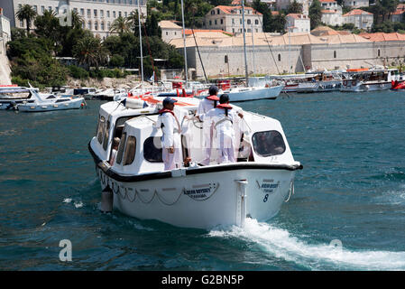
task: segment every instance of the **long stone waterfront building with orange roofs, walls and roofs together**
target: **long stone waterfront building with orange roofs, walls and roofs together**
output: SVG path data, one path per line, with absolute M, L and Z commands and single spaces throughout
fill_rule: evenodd
M 279 74 L 290 71 L 291 66 L 293 72 L 343 70 L 404 61 L 405 39 L 397 37 L 389 42 L 374 42 L 356 34 L 329 29 L 327 33 L 319 32 L 320 36 L 310 33 L 285 33 L 281 36 L 247 33 L 249 73 L 254 70 L 257 74 Z M 196 41 L 192 35 L 186 37 L 189 75 L 193 79 L 204 78 L 202 66 L 207 77 L 244 76 L 243 35 L 195 33 L 195 36 Z M 173 39 L 170 44 L 183 51 L 182 39 Z

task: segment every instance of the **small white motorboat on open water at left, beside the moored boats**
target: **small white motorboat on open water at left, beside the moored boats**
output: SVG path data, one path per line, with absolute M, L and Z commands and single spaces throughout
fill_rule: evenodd
M 57 97 L 53 94 L 39 93 L 30 88 L 33 102 L 17 104 L 17 109 L 23 112 L 41 112 L 51 110 L 75 109 L 85 106 L 84 98 Z

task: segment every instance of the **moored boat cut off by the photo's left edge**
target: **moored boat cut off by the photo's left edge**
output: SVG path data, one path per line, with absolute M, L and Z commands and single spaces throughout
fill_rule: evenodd
M 17 86 L 0 87 L 0 109 L 16 109 L 20 104 L 31 104 L 35 101 L 30 89 Z

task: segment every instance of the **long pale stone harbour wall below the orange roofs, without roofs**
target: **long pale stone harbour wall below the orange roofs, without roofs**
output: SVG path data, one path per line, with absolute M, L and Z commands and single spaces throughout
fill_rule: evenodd
M 243 46 L 199 47 L 199 52 L 207 77 L 244 76 Z M 254 54 L 253 47 L 246 46 L 246 56 L 249 74 L 253 74 L 253 70 L 255 74 L 278 74 L 309 69 L 369 68 L 377 64 L 404 63 L 405 42 L 254 46 Z M 188 48 L 188 68 L 194 70 L 194 78 L 204 79 L 195 47 Z

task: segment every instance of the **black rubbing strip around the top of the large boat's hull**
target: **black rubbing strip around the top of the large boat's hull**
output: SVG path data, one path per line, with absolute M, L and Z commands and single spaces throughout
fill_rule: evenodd
M 93 159 L 98 168 L 103 170 L 110 178 L 113 178 L 118 182 L 143 182 L 149 180 L 157 179 L 167 179 L 171 178 L 171 172 L 152 172 L 141 175 L 131 175 L 124 176 L 118 174 L 111 170 L 110 167 L 106 166 L 105 163 L 97 156 L 97 154 L 91 148 L 91 141 L 88 143 L 88 151 L 93 156 Z M 224 171 L 237 171 L 237 170 L 287 170 L 287 171 L 297 171 L 302 170 L 302 164 L 299 165 L 287 165 L 287 164 L 266 164 L 266 163 L 252 163 L 252 164 L 242 164 L 242 163 L 232 163 L 227 165 L 220 166 L 210 166 L 210 167 L 200 167 L 194 170 L 187 170 L 186 175 L 193 175 L 198 173 L 207 173 L 207 172 L 224 172 Z

